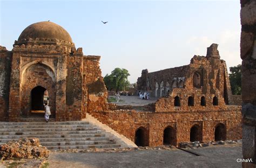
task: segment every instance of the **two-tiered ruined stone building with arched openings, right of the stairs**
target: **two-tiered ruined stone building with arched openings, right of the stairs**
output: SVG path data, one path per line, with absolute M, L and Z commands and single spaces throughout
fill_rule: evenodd
M 92 116 L 140 146 L 178 145 L 184 141 L 241 139 L 241 106 L 231 105 L 226 63 L 218 45 L 191 64 L 149 73 L 142 71 L 138 90 L 160 97 L 149 110 L 109 110 Z

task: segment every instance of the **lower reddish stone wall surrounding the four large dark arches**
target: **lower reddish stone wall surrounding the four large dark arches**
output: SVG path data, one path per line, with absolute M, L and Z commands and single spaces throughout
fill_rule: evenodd
M 168 126 L 177 132 L 176 144 L 190 141 L 190 129 L 194 124 L 200 126 L 203 142 L 214 141 L 214 129 L 218 123 L 225 125 L 227 139 L 240 139 L 240 110 L 239 106 L 228 106 L 215 110 L 184 111 L 177 109 L 167 113 L 114 110 L 104 113 L 93 112 L 92 115 L 131 141 L 134 141 L 136 130 L 143 127 L 149 135 L 147 137 L 149 145 L 157 146 L 163 145 L 163 132 Z

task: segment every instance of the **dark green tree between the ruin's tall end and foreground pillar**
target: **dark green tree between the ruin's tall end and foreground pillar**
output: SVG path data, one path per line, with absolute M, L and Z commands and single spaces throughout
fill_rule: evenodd
M 241 95 L 241 65 L 230 67 L 230 85 L 233 95 Z

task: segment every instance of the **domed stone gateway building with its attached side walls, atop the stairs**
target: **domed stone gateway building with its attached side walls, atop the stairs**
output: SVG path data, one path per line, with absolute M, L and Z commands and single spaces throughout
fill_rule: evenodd
M 82 120 L 106 108 L 99 56 L 83 55 L 70 34 L 52 22 L 29 25 L 12 51 L 0 47 L 0 120 L 20 121 L 42 113 L 56 121 Z

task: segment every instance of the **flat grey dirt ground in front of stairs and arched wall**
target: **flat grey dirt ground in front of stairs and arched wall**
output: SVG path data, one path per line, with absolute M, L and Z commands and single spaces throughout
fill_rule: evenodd
M 192 149 L 200 156 L 181 150 L 132 150 L 118 153 L 52 152 L 50 167 L 241 167 L 240 145 L 218 145 Z

